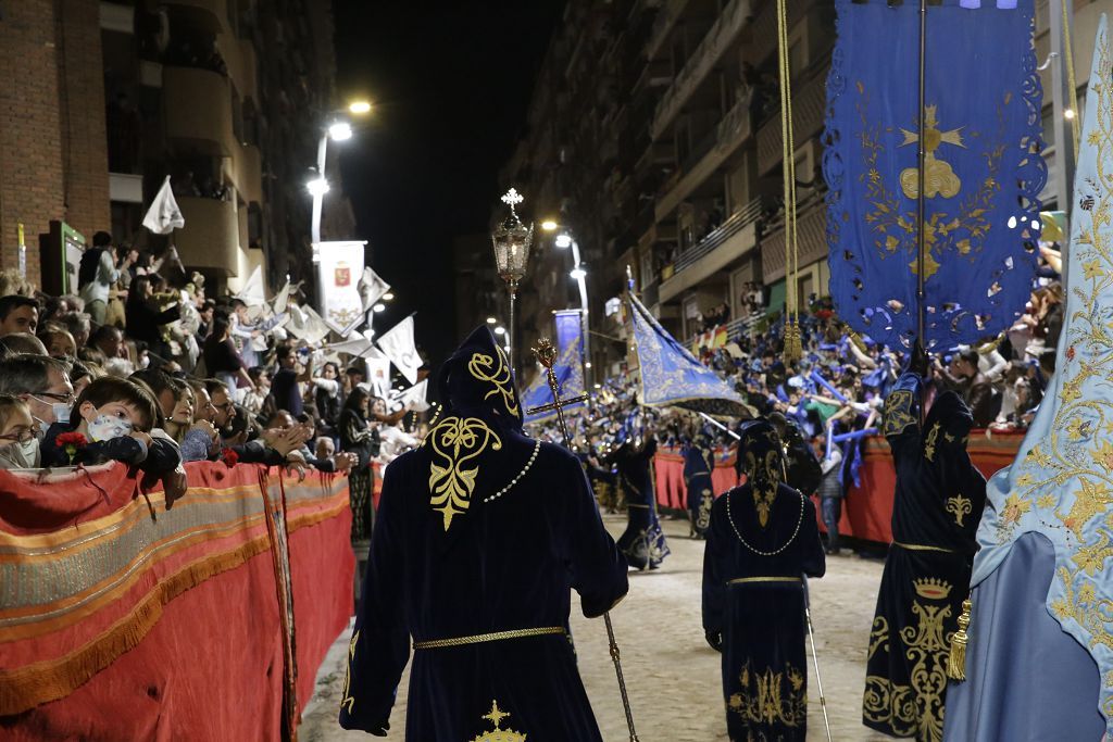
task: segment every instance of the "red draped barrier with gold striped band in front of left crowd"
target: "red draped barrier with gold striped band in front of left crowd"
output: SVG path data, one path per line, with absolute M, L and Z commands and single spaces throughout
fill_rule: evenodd
M 0 736 L 278 739 L 263 487 L 273 511 L 285 495 L 298 708 L 308 702 L 352 614 L 347 481 L 187 472 L 189 492 L 167 508 L 121 464 L 42 482 L 0 471 Z

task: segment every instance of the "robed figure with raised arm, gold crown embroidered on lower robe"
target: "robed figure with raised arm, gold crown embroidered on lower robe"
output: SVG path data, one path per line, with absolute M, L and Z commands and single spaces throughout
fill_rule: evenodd
M 883 433 L 897 473 L 893 545 L 869 635 L 863 723 L 892 736 L 943 739 L 946 661 L 969 587 L 985 477 L 966 453 L 974 421 L 954 392 L 919 422 L 920 380 L 904 374 Z

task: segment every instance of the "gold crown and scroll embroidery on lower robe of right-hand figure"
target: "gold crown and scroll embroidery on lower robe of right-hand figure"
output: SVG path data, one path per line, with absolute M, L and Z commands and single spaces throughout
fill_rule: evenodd
M 945 631 L 951 617 L 951 606 L 945 601 L 951 593 L 949 583 L 938 578 L 916 580 L 913 587 L 918 598 L 913 600 L 912 612 L 917 621 L 892 637 L 884 616 L 874 620 L 870 633 L 869 659 L 883 649 L 900 649 L 913 662 L 909 685 L 898 685 L 881 675 L 866 677 L 863 716 L 867 721 L 887 724 L 897 736 L 915 736 L 919 742 L 943 740 L 943 704 L 947 690 L 947 655 L 954 632 Z M 879 623 L 879 621 L 881 623 Z M 894 640 L 898 643 L 895 643 Z

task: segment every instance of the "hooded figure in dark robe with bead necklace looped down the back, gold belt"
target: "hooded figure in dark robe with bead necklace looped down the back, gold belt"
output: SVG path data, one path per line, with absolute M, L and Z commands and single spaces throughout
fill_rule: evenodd
M 731 740 L 804 742 L 808 665 L 802 576 L 823 576 L 811 501 L 784 484 L 784 448 L 766 421 L 742 428 L 746 484 L 711 506 L 703 632 L 722 653 Z

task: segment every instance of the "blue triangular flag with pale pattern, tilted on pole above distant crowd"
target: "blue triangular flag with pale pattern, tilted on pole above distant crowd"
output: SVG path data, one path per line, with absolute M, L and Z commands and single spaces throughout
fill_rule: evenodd
M 677 343 L 636 297 L 630 297 L 641 404 L 681 407 L 719 417 L 752 417 L 733 387 Z

